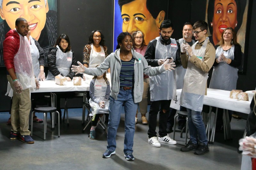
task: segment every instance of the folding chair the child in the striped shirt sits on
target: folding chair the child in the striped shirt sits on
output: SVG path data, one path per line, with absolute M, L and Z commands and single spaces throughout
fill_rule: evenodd
M 87 110 L 87 120 L 86 121 L 88 121 L 89 119 L 89 116 L 90 116 L 90 114 L 92 114 L 92 112 L 91 112 L 91 110 L 90 110 L 90 104 L 89 104 L 89 102 L 88 102 L 88 98 L 87 98 L 87 95 L 89 94 L 89 92 L 84 92 L 84 102 L 83 102 L 83 116 L 82 116 L 82 121 L 84 121 L 84 118 L 85 118 L 85 109 Z M 100 114 L 100 113 L 99 113 Z M 92 116 L 90 116 L 91 118 L 90 118 L 90 120 L 89 120 L 89 122 L 86 124 L 86 126 L 84 127 L 84 129 L 83 129 L 83 133 L 84 133 L 84 131 L 85 131 L 85 129 L 87 128 L 87 126 L 89 126 L 89 124 L 92 122 Z M 102 119 L 103 118 L 103 119 Z M 106 131 L 106 133 L 108 134 L 108 127 L 106 126 L 106 124 L 104 123 L 104 120 L 105 120 L 105 114 L 103 114 L 103 116 L 102 117 L 99 117 L 99 121 L 97 122 L 97 126 L 100 124 L 100 126 Z M 95 128 L 97 128 L 97 126 L 95 127 Z

